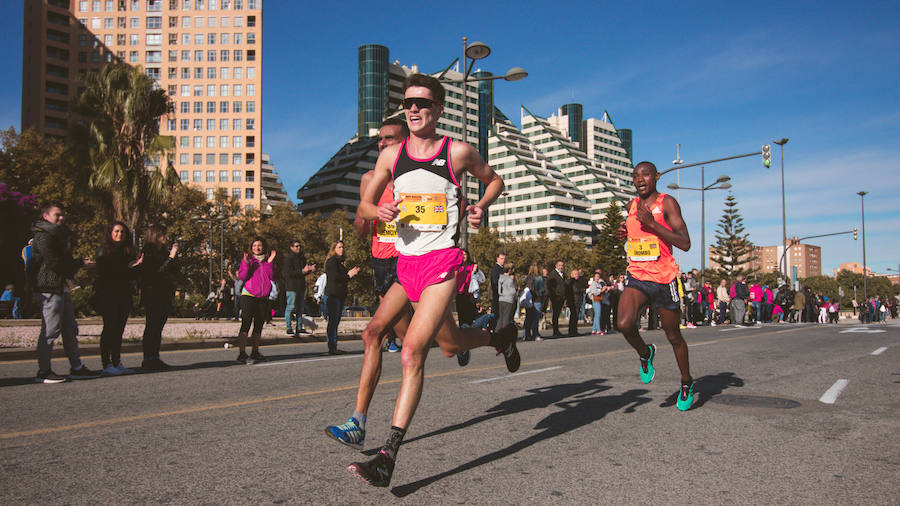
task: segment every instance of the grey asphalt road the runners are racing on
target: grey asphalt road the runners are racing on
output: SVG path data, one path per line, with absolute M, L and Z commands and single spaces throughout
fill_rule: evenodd
M 900 325 L 686 330 L 688 412 L 665 336 L 645 337 L 649 385 L 621 334 L 523 343 L 514 375 L 488 348 L 465 368 L 432 350 L 388 489 L 351 477 L 367 456 L 323 433 L 353 411 L 359 341 L 272 346 L 253 366 L 170 352 L 170 372 L 60 385 L 7 362 L 0 503 L 898 504 Z M 399 354 L 384 358 L 369 454 L 399 386 Z

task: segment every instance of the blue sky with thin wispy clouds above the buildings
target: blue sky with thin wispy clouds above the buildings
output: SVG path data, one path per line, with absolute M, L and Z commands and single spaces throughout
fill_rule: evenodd
M 19 127 L 22 2 L 0 5 L 0 126 Z M 585 116 L 608 110 L 634 131 L 635 161 L 670 166 L 675 144 L 697 162 L 785 146 L 787 232 L 809 236 L 860 227 L 866 196 L 870 268 L 900 268 L 900 4 L 867 2 L 307 2 L 267 0 L 263 19 L 263 150 L 288 193 L 356 129 L 356 54 L 390 48 L 391 60 L 442 68 L 462 37 L 488 44 L 480 68 L 524 67 L 498 82 L 496 105 L 549 116 L 567 102 Z M 732 178 L 750 239 L 781 241 L 779 151 L 772 169 L 756 157 L 708 166 L 707 182 Z M 699 186 L 699 168 L 681 171 Z M 661 188 L 674 181 L 664 176 Z M 708 192 L 707 246 L 724 191 Z M 700 195 L 681 203 L 693 239 L 683 267 L 700 264 Z M 862 240 L 814 239 L 823 274 L 862 262 Z

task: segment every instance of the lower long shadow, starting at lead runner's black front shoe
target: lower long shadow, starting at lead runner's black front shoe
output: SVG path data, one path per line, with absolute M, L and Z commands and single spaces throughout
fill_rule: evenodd
M 609 387 L 604 387 L 603 389 L 605 390 L 608 388 Z M 511 446 L 466 462 L 465 464 L 459 465 L 448 471 L 412 483 L 407 483 L 406 485 L 394 487 L 391 489 L 391 493 L 397 497 L 406 497 L 417 492 L 421 488 L 427 487 L 448 476 L 453 476 L 461 472 L 475 469 L 484 464 L 489 464 L 530 448 L 541 441 L 561 436 L 567 432 L 590 425 L 614 411 L 624 410 L 625 413 L 631 413 L 638 406 L 650 402 L 651 399 L 645 397 L 647 392 L 647 390 L 629 390 L 620 395 L 594 395 L 593 397 L 577 396 L 577 398 L 572 400 L 555 402 L 553 405 L 562 409 L 561 411 L 551 413 L 535 425 L 534 428 L 541 430 L 541 432 L 514 443 Z

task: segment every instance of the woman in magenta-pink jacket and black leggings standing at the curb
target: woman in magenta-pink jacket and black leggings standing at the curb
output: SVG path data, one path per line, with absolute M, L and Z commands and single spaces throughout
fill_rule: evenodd
M 244 282 L 241 289 L 241 331 L 238 334 L 237 361 L 242 364 L 264 362 L 266 357 L 259 352 L 259 339 L 262 326 L 268 319 L 269 292 L 272 291 L 272 280 L 275 279 L 275 250 L 266 257 L 266 241 L 257 237 L 250 242 L 250 252 L 244 253 L 238 278 Z M 247 356 L 247 332 L 253 324 L 251 346 L 253 351 Z

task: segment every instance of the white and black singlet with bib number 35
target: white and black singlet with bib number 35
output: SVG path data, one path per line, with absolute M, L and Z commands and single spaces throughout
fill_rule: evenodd
M 437 154 L 426 160 L 409 155 L 400 145 L 394 161 L 394 197 L 400 199 L 397 242 L 401 255 L 419 256 L 456 246 L 459 238 L 461 189 L 450 163 L 449 138 Z

